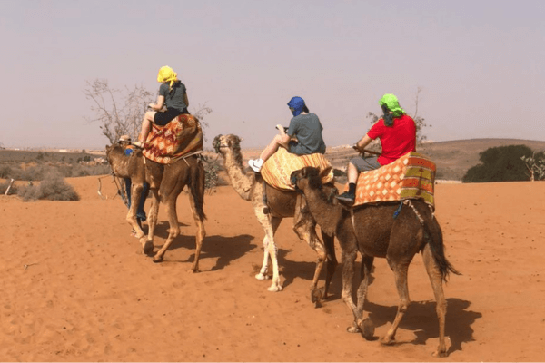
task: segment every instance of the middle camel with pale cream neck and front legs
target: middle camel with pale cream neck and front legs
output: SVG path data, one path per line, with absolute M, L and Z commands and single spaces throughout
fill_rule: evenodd
M 320 306 L 322 291 L 317 289 L 317 284 L 323 262 L 327 260 L 327 273 L 323 290 L 324 299 L 327 298 L 329 284 L 338 264 L 333 246 L 334 237 L 332 234 L 326 235 L 322 232 L 323 242 L 318 238 L 315 231 L 316 222 L 312 219 L 301 193 L 276 190 L 263 182 L 261 174 L 252 172 L 251 175 L 248 175 L 244 172 L 240 142 L 241 139 L 233 134 L 218 135 L 213 140 L 213 147 L 216 152 L 223 156 L 224 167 L 234 190 L 239 193 L 243 200 L 252 201 L 255 216 L 265 231 L 263 265 L 255 278 L 258 280 L 267 278 L 270 257 L 272 260 L 272 284 L 269 291 L 282 290 L 274 232 L 278 229 L 283 218 L 293 217 L 293 231 L 318 254 L 311 285 L 311 299 L 312 302 L 316 303 L 316 306 Z M 324 189 L 326 191 L 335 190 L 333 185 L 326 185 Z

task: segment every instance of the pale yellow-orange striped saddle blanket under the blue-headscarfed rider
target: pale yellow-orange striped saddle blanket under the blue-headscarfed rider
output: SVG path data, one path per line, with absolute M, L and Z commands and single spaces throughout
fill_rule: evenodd
M 322 176 L 322 183 L 333 181 L 332 164 L 325 159 L 322 153 L 296 155 L 282 147 L 263 163 L 261 174 L 265 182 L 273 188 L 282 191 L 294 191 L 295 187 L 290 182 L 292 172 L 298 171 L 305 166 L 318 168 Z

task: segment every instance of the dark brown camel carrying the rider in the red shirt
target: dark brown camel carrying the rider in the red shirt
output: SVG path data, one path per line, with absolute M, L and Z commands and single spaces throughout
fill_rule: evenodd
M 439 346 L 436 357 L 445 357 L 445 313 L 447 303 L 442 289 L 442 280 L 450 272 L 459 274 L 444 254 L 442 232 L 431 209 L 421 200 L 405 201 L 401 211 L 394 213 L 401 202 L 384 202 L 363 205 L 353 213 L 342 207 L 338 201 L 331 201 L 323 193 L 322 181 L 315 168 L 307 167 L 292 173 L 292 183 L 304 193 L 312 216 L 328 233 L 335 233 L 342 248 L 342 299 L 352 309 L 354 323 L 348 330 L 361 332 L 364 338 L 372 338 L 374 327 L 370 319 L 363 319 L 363 303 L 367 294 L 372 262 L 375 257 L 385 258 L 393 271 L 400 296 L 397 315 L 391 329 L 381 343 L 394 343 L 396 330 L 410 303 L 407 271 L 412 258 L 418 252 L 430 277 L 431 287 L 437 301 L 439 318 Z M 358 289 L 357 306 L 352 299 L 354 260 L 357 252 L 362 253 L 362 282 Z

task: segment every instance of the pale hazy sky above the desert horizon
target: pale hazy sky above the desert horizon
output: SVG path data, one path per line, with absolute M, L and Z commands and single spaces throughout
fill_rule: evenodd
M 263 147 L 301 96 L 328 146 L 357 142 L 398 96 L 431 141 L 545 140 L 545 1 L 0 0 L 0 143 L 102 149 L 88 82 L 156 94 L 169 65 L 205 147 Z

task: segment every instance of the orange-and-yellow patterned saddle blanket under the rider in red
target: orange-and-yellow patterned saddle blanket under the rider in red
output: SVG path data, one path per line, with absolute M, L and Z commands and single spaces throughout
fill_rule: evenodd
M 435 163 L 429 158 L 419 152 L 409 152 L 377 170 L 360 172 L 353 206 L 422 199 L 434 209 L 435 170 Z

